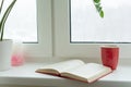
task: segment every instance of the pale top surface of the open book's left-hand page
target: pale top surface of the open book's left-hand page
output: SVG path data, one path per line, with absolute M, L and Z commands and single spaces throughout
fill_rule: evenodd
M 50 65 L 46 65 L 44 67 L 40 67 L 38 70 L 56 70 L 59 73 L 69 70 L 69 69 L 73 69 L 73 67 L 78 67 L 80 65 L 83 65 L 84 62 L 81 60 L 69 60 L 69 61 L 63 61 L 63 62 L 59 62 L 59 63 L 55 63 L 55 64 L 50 64 Z

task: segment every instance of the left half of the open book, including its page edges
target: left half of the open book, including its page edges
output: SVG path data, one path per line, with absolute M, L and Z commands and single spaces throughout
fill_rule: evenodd
M 61 72 L 78 67 L 80 65 L 84 65 L 84 62 L 81 60 L 62 61 L 59 63 L 49 64 L 49 65 L 39 67 L 38 70 L 36 70 L 36 72 L 59 75 Z

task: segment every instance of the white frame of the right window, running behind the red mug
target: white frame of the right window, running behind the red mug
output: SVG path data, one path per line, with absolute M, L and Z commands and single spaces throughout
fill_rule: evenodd
M 53 53 L 59 58 L 100 58 L 100 46 L 117 45 L 120 59 L 131 58 L 131 44 L 70 44 L 69 1 L 53 0 Z

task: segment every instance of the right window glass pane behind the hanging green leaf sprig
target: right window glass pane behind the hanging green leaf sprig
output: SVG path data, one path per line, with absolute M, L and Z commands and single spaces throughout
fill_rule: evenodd
M 71 0 L 71 42 L 131 42 L 131 0 L 100 0 L 102 18 L 93 0 Z

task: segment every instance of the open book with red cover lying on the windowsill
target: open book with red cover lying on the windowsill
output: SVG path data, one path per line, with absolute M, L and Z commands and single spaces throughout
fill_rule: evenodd
M 111 73 L 111 69 L 97 63 L 84 63 L 81 60 L 69 60 L 37 69 L 37 73 L 57 75 L 66 78 L 92 83 Z

